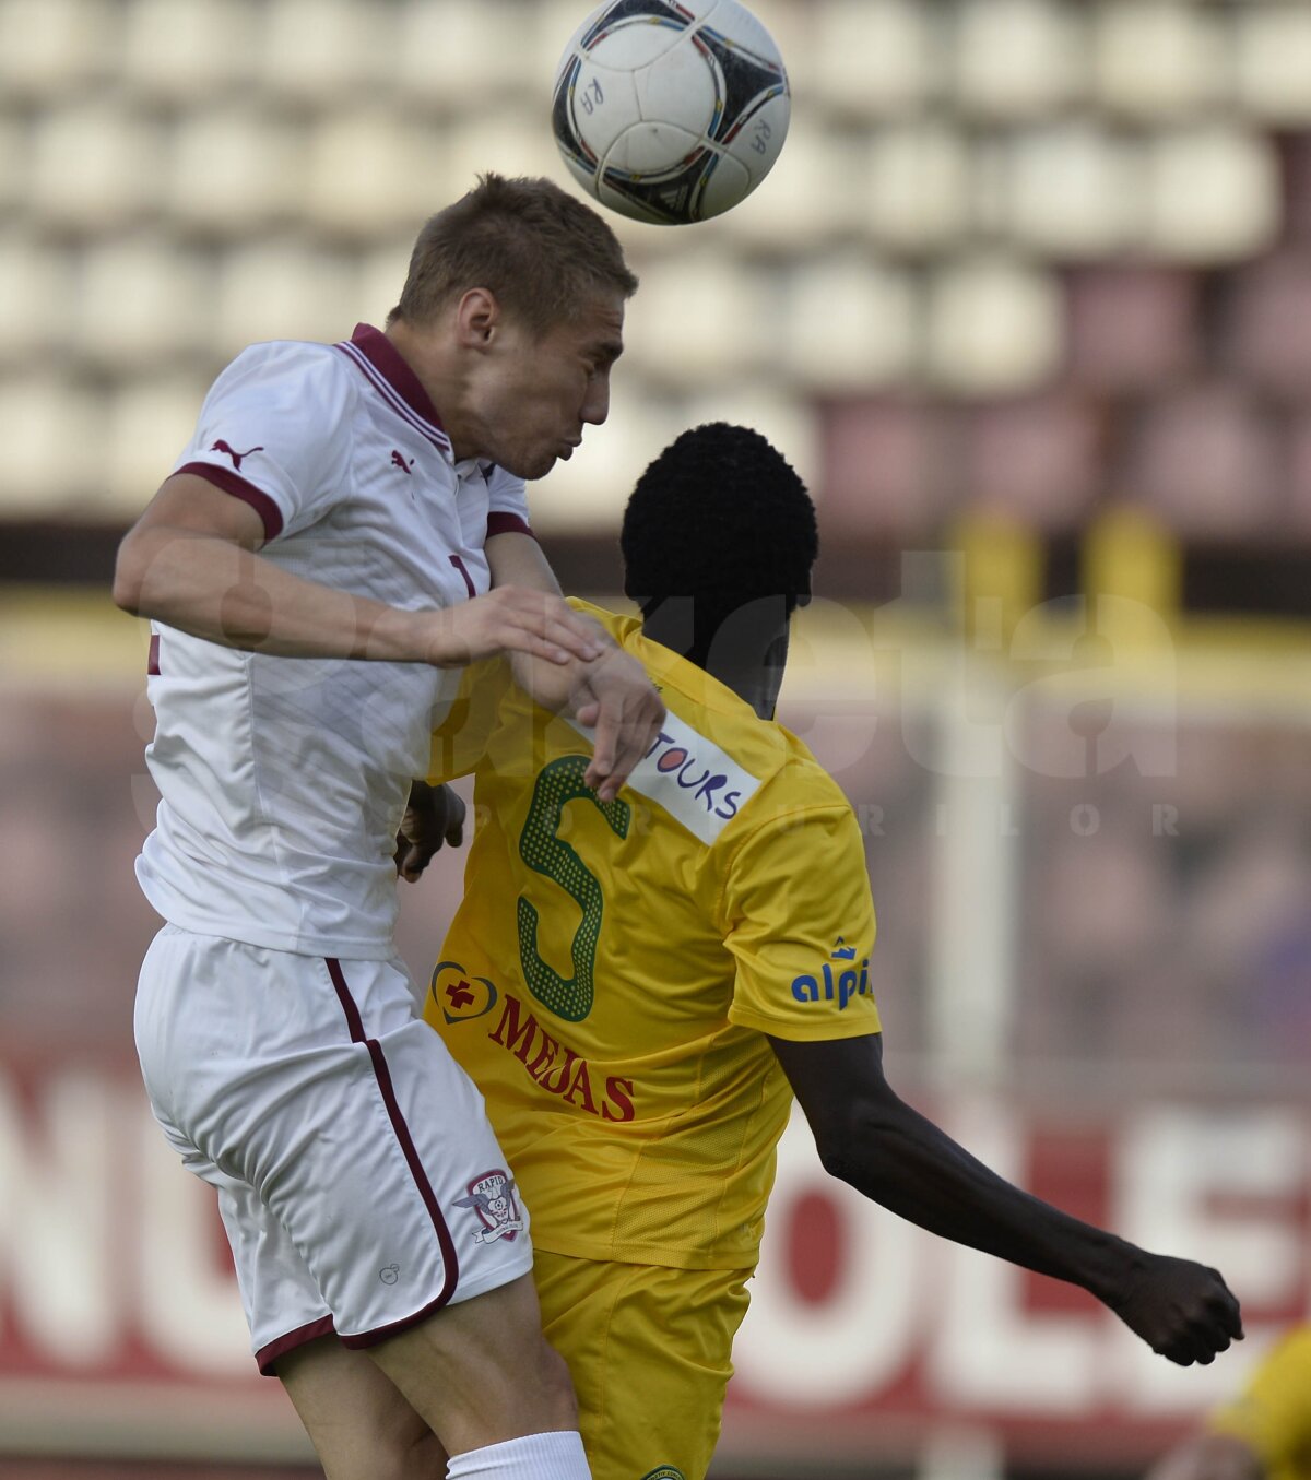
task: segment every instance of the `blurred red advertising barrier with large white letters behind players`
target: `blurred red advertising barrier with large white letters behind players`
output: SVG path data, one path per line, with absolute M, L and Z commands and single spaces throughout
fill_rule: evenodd
M 1091 1296 L 946 1245 L 835 1184 L 803 1123 L 780 1153 L 737 1348 L 724 1455 L 835 1467 L 928 1425 L 1015 1456 L 1141 1464 L 1311 1311 L 1311 1132 L 1301 1109 L 1133 1106 L 1036 1120 L 932 1107 L 990 1165 L 1150 1248 L 1219 1265 L 1249 1342 L 1179 1370 Z M 0 1066 L 0 1433 L 7 1447 L 303 1452 L 256 1375 L 222 1228 L 164 1146 L 135 1066 Z

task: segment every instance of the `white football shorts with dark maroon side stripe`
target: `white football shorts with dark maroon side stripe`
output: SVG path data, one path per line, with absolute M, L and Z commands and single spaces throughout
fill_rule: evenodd
M 155 1117 L 219 1193 L 262 1372 L 368 1347 L 533 1267 L 482 1095 L 414 1015 L 400 961 L 166 925 L 136 996 Z

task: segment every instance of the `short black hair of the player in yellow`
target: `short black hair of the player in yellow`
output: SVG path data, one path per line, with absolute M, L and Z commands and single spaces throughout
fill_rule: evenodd
M 820 549 L 806 487 L 759 432 L 710 422 L 684 432 L 647 468 L 620 531 L 624 592 L 644 611 L 664 596 L 721 610 L 811 589 Z

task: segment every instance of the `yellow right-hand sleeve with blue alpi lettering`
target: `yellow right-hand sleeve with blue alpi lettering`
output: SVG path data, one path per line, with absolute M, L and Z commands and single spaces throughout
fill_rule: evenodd
M 879 1032 L 874 907 L 846 802 L 774 813 L 738 844 L 724 889 L 729 1021 L 818 1042 Z

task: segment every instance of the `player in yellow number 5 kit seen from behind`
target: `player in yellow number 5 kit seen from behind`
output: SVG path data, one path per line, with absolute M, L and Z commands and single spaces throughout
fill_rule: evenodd
M 1241 1335 L 1213 1270 L 1002 1181 L 883 1077 L 860 830 L 772 721 L 817 551 L 801 480 L 758 434 L 697 428 L 639 480 L 621 545 L 642 619 L 577 605 L 667 721 L 620 795 L 584 786 L 586 734 L 497 665 L 471 672 L 432 774 L 476 773 L 479 824 L 426 1017 L 509 1159 L 471 1184 L 456 1248 L 527 1237 L 531 1209 L 596 1480 L 704 1476 L 793 1094 L 835 1177 L 1210 1362 Z

